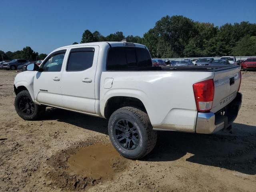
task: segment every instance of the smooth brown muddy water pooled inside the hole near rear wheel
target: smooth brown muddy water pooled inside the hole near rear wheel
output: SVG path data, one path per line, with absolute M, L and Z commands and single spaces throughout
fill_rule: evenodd
M 80 148 L 68 159 L 68 169 L 94 179 L 112 178 L 127 160 L 111 144 L 96 144 Z

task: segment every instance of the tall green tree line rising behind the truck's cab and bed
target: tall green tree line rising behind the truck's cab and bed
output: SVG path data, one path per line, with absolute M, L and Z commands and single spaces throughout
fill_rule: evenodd
M 80 43 L 124 38 L 123 32 L 103 36 L 98 31 L 85 30 Z M 256 24 L 245 21 L 218 27 L 184 16 L 165 16 L 142 38 L 129 35 L 126 39 L 146 45 L 153 58 L 256 55 Z

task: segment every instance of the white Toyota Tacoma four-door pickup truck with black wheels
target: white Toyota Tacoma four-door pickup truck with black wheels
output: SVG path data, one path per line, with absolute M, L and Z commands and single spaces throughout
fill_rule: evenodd
M 42 118 L 46 106 L 107 118 L 116 150 L 138 159 L 154 148 L 156 130 L 210 134 L 230 126 L 240 83 L 240 66 L 152 67 L 141 44 L 76 44 L 17 74 L 15 108 L 24 120 Z

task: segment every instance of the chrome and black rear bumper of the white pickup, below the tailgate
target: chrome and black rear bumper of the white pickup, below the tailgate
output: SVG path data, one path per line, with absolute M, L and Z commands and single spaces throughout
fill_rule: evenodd
M 223 128 L 227 128 L 236 119 L 242 104 L 242 94 L 237 93 L 236 98 L 222 110 L 225 114 L 198 112 L 196 121 L 196 133 L 211 134 Z

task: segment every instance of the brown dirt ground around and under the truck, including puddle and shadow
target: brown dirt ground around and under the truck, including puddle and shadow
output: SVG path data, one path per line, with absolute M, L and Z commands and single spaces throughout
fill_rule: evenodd
M 1 192 L 256 191 L 256 72 L 242 72 L 231 132 L 158 132 L 154 150 L 136 161 L 114 154 L 105 119 L 48 108 L 42 120 L 22 120 L 16 74 L 0 70 Z

